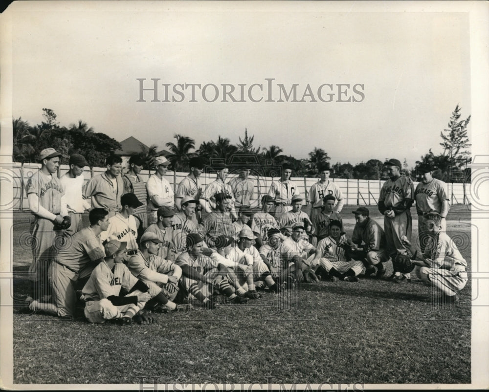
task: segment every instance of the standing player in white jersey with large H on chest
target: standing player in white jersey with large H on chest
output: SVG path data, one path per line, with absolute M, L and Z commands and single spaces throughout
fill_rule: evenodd
M 311 221 L 314 221 L 314 217 L 321 212 L 323 206 L 324 197 L 327 195 L 334 196 L 337 200 L 335 211 L 339 214 L 343 209 L 345 200 L 343 193 L 336 186 L 333 181 L 330 181 L 330 164 L 326 163 L 319 168 L 320 179 L 314 185 L 311 186 L 309 193 L 307 194 L 307 205 L 311 204 Z

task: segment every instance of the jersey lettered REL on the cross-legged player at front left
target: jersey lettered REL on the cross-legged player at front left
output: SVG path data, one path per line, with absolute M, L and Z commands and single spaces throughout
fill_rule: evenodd
M 100 301 L 111 295 L 119 296 L 121 288 L 130 291 L 136 283 L 137 278 L 123 263 L 110 269 L 104 260 L 92 271 L 82 294 L 85 301 Z

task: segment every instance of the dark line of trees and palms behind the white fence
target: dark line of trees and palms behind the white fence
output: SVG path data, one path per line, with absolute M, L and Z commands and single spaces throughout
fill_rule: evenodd
M 461 120 L 461 108 L 456 106 L 452 112 L 450 121 L 445 130 L 441 131 L 440 136 L 443 152 L 434 154 L 432 149 L 422 155 L 420 160 L 412 168 L 408 167 L 404 159 L 401 173 L 410 176 L 413 180 L 417 179 L 417 170 L 420 165 L 430 164 L 436 168 L 433 177 L 446 182 L 469 182 L 471 146 L 467 135 L 467 125 L 470 116 Z M 30 126 L 21 117 L 14 119 L 13 125 L 13 160 L 14 162 L 37 161 L 37 156 L 41 150 L 53 147 L 61 152 L 61 163 L 66 164 L 68 157 L 72 153 L 79 153 L 93 166 L 103 167 L 105 158 L 111 152 L 121 149 L 121 145 L 115 139 L 101 132 L 95 132 L 89 128 L 87 123 L 78 120 L 78 123 L 70 124 L 69 127 L 62 127 L 56 121 L 56 114 L 52 109 L 43 109 L 44 121 L 41 124 Z M 243 138 L 239 137 L 239 142 L 234 145 L 231 141 L 218 136 L 216 141 L 210 140 L 200 144 L 196 149 L 195 140 L 182 134 L 174 134 L 174 141 L 166 143 L 170 152 L 167 158 L 172 162 L 171 169 L 177 172 L 189 170 L 188 162 L 193 156 L 200 155 L 206 158 L 209 163 L 220 160 L 226 163 L 240 165 L 243 163 L 258 165 L 261 173 L 270 176 L 276 173 L 276 167 L 282 164 L 289 164 L 294 170 L 294 176 L 317 177 L 319 171 L 325 164 L 331 166 L 331 176 L 335 178 L 350 179 L 385 179 L 387 173 L 383 167 L 390 157 L 384 160 L 369 159 L 367 162 L 360 162 L 352 165 L 350 162 L 336 162 L 331 164 L 331 157 L 322 148 L 315 147 L 309 152 L 308 159 L 297 159 L 292 155 L 283 154 L 284 150 L 277 146 L 255 147 L 254 135 L 248 135 L 247 129 L 244 130 Z M 163 154 L 163 150 L 155 144 L 149 148 L 140 145 L 139 155 L 142 157 L 144 169 L 149 170 L 156 158 Z

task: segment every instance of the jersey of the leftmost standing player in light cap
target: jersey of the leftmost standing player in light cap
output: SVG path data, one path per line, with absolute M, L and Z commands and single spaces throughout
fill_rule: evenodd
M 61 197 L 65 195 L 61 181 L 55 175 L 46 175 L 41 170 L 34 173 L 25 184 L 26 194 L 35 193 L 39 204 L 53 214 L 61 213 Z

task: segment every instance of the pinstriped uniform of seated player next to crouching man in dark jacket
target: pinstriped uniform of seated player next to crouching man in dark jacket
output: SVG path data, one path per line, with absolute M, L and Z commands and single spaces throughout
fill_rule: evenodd
M 328 272 L 334 268 L 344 274 L 352 269 L 355 271 L 355 275 L 359 275 L 363 270 L 363 263 L 355 260 L 347 261 L 345 249 L 343 249 L 345 244 L 346 237 L 344 235 L 337 242 L 331 236 L 320 240 L 317 244 L 317 250 L 322 255 L 319 259 L 319 265 Z

